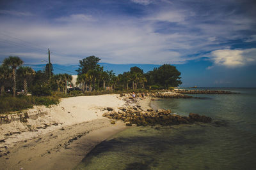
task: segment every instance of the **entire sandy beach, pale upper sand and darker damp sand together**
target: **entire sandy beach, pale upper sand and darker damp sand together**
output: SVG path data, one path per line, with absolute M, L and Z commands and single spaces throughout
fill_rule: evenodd
M 148 108 L 149 98 L 138 101 Z M 27 122 L 0 125 L 0 169 L 72 169 L 101 141 L 128 128 L 102 117 L 107 107 L 122 106 L 127 106 L 124 97 L 111 94 L 70 97 L 51 108 L 22 111 Z

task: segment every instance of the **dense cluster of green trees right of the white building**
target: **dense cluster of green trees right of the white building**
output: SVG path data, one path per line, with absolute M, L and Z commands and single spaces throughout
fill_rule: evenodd
M 147 73 L 135 66 L 116 76 L 113 70 L 104 71 L 98 64 L 99 61 L 100 58 L 95 56 L 79 60 L 77 83 L 81 83 L 83 92 L 92 89 L 106 90 L 106 86 L 112 90 L 168 89 L 182 83 L 180 72 L 170 64 L 163 64 Z

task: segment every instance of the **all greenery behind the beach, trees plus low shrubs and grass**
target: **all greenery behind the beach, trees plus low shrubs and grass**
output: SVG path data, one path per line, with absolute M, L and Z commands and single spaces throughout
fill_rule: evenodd
M 31 108 L 33 104 L 49 106 L 57 104 L 63 97 L 172 90 L 182 83 L 180 72 L 170 64 L 147 73 L 135 66 L 116 76 L 113 70 L 104 70 L 99 61 L 99 57 L 93 55 L 79 60 L 77 82 L 73 84 L 72 75 L 54 74 L 51 63 L 46 64 L 43 70 L 34 71 L 31 67 L 23 67 L 19 57 L 4 59 L 0 66 L 0 111 Z

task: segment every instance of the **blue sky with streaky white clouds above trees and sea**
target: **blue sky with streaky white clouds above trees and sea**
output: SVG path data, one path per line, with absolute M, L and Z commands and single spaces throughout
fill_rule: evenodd
M 76 73 L 95 55 L 118 74 L 172 64 L 183 87 L 256 87 L 256 1 L 0 0 L 0 61 Z M 69 71 L 69 72 L 68 72 Z

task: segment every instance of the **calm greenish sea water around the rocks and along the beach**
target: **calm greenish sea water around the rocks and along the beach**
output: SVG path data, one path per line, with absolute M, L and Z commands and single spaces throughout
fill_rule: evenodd
M 256 89 L 218 90 L 241 94 L 151 103 L 217 123 L 132 127 L 97 145 L 76 169 L 256 169 Z

